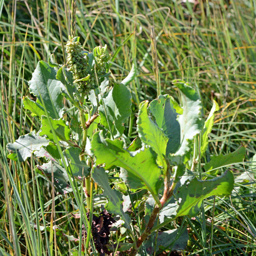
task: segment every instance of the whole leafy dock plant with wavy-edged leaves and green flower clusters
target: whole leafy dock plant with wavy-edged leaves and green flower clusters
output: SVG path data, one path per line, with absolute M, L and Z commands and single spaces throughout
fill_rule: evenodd
M 186 227 L 166 225 L 197 216 L 208 197 L 229 195 L 233 173 L 217 171 L 241 162 L 245 148 L 212 156 L 202 166 L 218 105 L 213 102 L 205 120 L 198 90 L 181 80 L 172 81 L 180 102 L 166 94 L 137 106 L 136 135 L 128 137 L 126 124 L 134 113 L 127 86 L 136 77 L 135 65 L 123 80 L 112 81 L 107 46 L 84 51 L 74 33 L 66 54 L 64 64 L 50 56 L 36 66 L 29 81 L 36 100 L 27 95 L 23 106 L 40 130 L 9 143 L 9 159 L 39 157 L 38 175 L 55 194 L 74 198 L 81 215 L 80 251 L 153 255 L 160 248 L 185 249 Z M 111 232 L 121 239 L 112 235 L 116 241 L 109 242 Z

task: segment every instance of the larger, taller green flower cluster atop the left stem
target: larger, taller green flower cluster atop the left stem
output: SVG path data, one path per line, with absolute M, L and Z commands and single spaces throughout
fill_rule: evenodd
M 82 45 L 79 42 L 79 37 L 71 38 L 66 44 L 66 52 L 68 60 L 66 65 L 73 73 L 74 83 L 77 84 L 77 90 L 80 93 L 88 93 L 91 88 L 88 74 L 88 57 L 83 53 Z

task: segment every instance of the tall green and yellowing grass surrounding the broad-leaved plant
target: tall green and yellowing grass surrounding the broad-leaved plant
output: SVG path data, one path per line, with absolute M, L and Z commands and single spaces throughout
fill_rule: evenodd
M 72 195 L 52 193 L 48 182 L 34 172 L 39 159 L 10 162 L 6 150 L 7 143 L 39 130 L 38 120 L 22 108 L 21 99 L 29 95 L 28 81 L 39 60 L 47 61 L 54 53 L 56 62 L 63 63 L 70 2 L 58 1 L 57 9 L 55 1 L 0 1 L 0 255 L 71 255 L 71 249 L 81 245 L 52 229 L 56 222 L 66 235 L 81 234 L 80 220 L 72 216 L 78 209 Z M 236 183 L 230 197 L 205 200 L 205 215 L 179 219 L 166 229 L 181 225 L 189 229 L 183 255 L 256 255 L 255 157 L 251 159 L 256 149 L 256 2 L 200 0 L 195 8 L 178 2 L 77 1 L 77 35 L 88 51 L 108 45 L 113 80 L 127 75 L 132 63 L 137 66 L 138 75 L 129 87 L 133 101 L 126 127 L 129 136 L 136 133 L 139 102 L 157 95 L 152 25 L 162 94 L 179 99 L 171 81 L 181 78 L 202 96 L 205 117 L 212 100 L 218 102 L 205 160 L 245 145 L 245 162 L 229 168 L 235 177 L 249 173 L 252 180 Z

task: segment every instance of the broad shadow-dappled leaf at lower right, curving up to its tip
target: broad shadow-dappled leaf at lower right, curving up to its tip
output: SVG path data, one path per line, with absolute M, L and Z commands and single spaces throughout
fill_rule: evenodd
M 234 188 L 234 176 L 229 170 L 217 178 L 205 181 L 198 180 L 194 175 L 184 175 L 181 184 L 175 192 L 175 199 L 179 202 L 176 217 L 193 217 L 199 214 L 203 199 L 230 194 Z

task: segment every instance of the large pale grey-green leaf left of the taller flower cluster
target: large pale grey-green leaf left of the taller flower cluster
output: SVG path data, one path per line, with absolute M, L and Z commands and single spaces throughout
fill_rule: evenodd
M 29 81 L 29 90 L 38 97 L 38 103 L 44 106 L 52 118 L 60 118 L 64 112 L 62 82 L 56 80 L 56 70 L 46 62 L 40 61 Z

